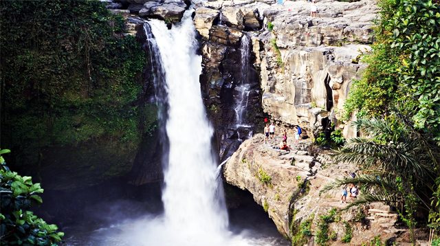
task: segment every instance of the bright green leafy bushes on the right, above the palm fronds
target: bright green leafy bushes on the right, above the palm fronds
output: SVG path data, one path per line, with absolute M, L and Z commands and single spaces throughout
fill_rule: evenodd
M 346 120 L 387 115 L 396 104 L 415 107 L 414 126 L 440 144 L 440 4 L 431 0 L 381 0 L 369 67 L 353 82 Z

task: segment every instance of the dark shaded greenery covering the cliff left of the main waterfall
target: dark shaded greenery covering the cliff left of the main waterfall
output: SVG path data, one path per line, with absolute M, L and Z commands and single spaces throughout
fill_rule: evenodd
M 146 64 L 122 16 L 100 1 L 1 1 L 3 144 L 31 164 L 41 148 L 140 141 Z M 14 133 L 12 135 L 12 133 Z

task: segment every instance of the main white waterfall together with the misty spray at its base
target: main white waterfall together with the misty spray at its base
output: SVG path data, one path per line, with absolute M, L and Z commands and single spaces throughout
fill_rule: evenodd
M 240 223 L 229 225 L 223 186 L 217 177 L 217 164 L 212 153 L 213 129 L 201 99 L 201 56 L 196 54 L 197 40 L 190 14 L 187 11 L 181 23 L 171 30 L 163 21 L 148 21 L 162 61 L 168 94 L 166 135 L 169 154 L 162 192 L 164 212 L 111 223 L 86 236 L 87 243 L 80 240 L 80 244 L 193 246 L 285 243 L 279 235 L 278 238 L 261 236 L 254 231 L 255 228 L 242 230 Z M 247 215 L 250 218 L 246 218 L 246 222 L 254 221 L 252 212 Z M 116 214 L 110 216 L 118 219 Z M 76 245 L 75 240 L 71 245 Z

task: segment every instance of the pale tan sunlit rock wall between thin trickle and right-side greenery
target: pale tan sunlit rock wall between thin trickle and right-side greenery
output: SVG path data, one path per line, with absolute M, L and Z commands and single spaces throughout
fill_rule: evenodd
M 259 41 L 263 109 L 273 118 L 313 132 L 333 122 L 345 137 L 355 129 L 341 113 L 351 82 L 365 65 L 359 60 L 373 42 L 374 1 L 319 1 L 311 17 L 304 1 L 287 2 L 264 12 L 267 26 Z

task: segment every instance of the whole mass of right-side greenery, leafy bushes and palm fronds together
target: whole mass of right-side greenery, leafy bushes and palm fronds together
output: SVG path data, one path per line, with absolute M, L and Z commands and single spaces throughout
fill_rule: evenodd
M 360 175 L 327 189 L 356 183 L 364 194 L 351 203 L 382 201 L 397 208 L 411 229 L 440 232 L 440 4 L 380 0 L 369 67 L 353 83 L 348 118 L 363 134 L 336 151 L 336 161 L 358 164 Z M 439 243 L 437 241 L 437 243 Z

